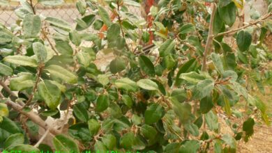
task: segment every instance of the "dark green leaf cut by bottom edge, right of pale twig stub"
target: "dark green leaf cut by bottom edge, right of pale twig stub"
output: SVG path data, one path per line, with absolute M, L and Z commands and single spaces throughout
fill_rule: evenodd
M 62 134 L 54 137 L 53 144 L 59 152 L 80 152 L 77 143 L 72 138 Z

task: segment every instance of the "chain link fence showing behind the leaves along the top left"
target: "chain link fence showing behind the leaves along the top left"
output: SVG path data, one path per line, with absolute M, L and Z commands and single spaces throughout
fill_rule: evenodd
M 66 22 L 73 23 L 77 17 L 81 17 L 74 3 L 64 3 L 61 6 L 36 6 L 36 12 L 45 17 L 57 17 Z M 0 22 L 5 25 L 15 24 L 18 17 L 15 10 L 20 7 L 20 3 L 13 3 L 11 6 L 0 6 Z M 130 13 L 141 16 L 141 8 L 130 6 Z

